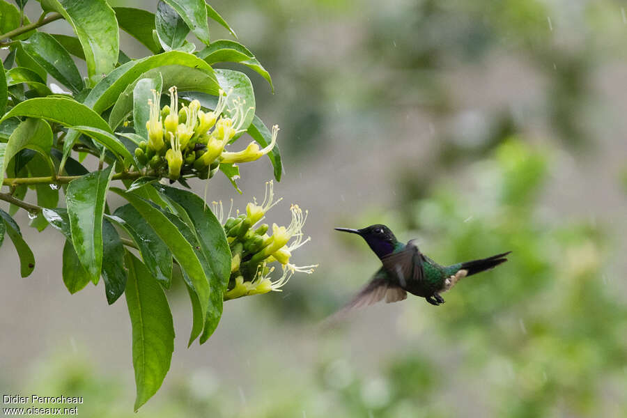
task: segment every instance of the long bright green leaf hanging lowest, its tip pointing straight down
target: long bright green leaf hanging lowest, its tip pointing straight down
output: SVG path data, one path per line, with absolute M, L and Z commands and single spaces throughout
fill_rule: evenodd
M 144 263 L 126 251 L 126 304 L 133 330 L 134 410 L 157 393 L 170 369 L 174 325 L 163 290 Z

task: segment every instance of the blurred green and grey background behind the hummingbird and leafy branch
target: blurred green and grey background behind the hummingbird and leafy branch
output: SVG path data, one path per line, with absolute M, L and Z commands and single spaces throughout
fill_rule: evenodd
M 276 87 L 243 68 L 258 114 L 281 126 L 285 202 L 268 220 L 286 223 L 291 202 L 308 208 L 312 242 L 295 258 L 320 268 L 283 293 L 226 303 L 215 335 L 189 350 L 187 295 L 171 294 L 171 371 L 136 415 L 125 302 L 107 307 L 102 284 L 70 296 L 61 236 L 22 214 L 38 266 L 19 279 L 15 254 L 0 251 L 15 270 L 0 294 L 3 394 L 84 396 L 86 417 L 624 416 L 624 3 L 212 5 Z M 228 36 L 214 25 L 214 39 Z M 121 45 L 146 54 L 127 36 Z M 242 167 L 235 207 L 271 176 L 265 160 Z M 231 194 L 228 180 L 210 183 L 209 199 Z M 441 307 L 410 297 L 322 332 L 379 263 L 332 228 L 373 223 L 442 263 L 513 254 Z

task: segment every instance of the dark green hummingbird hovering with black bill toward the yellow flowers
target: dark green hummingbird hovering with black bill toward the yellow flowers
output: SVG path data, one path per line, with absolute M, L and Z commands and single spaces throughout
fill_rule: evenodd
M 449 291 L 460 279 L 495 268 L 507 261 L 505 256 L 511 253 L 507 251 L 488 258 L 440 265 L 419 251 L 416 240 L 403 244 L 385 225 L 336 230 L 360 235 L 382 263 L 371 281 L 343 310 L 370 305 L 384 298 L 387 303 L 398 302 L 405 300 L 408 292 L 438 306 L 444 303 L 441 293 Z

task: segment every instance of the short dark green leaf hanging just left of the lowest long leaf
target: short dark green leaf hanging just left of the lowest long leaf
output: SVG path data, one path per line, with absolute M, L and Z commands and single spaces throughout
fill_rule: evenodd
M 107 302 L 113 304 L 124 293 L 127 272 L 124 268 L 124 247 L 118 231 L 107 219 L 102 220 L 102 279 Z

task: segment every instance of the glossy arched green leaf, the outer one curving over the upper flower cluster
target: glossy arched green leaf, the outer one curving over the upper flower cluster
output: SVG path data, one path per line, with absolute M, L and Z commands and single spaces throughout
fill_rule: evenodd
M 215 73 L 211 66 L 199 59 L 194 54 L 187 52 L 169 51 L 163 54 L 149 56 L 145 59 L 131 61 L 120 65 L 111 71 L 107 77 L 104 77 L 93 90 L 85 98 L 84 104 L 91 107 L 96 113 L 108 109 L 113 105 L 118 97 L 125 91 L 129 84 L 139 79 L 145 72 L 153 68 L 164 67 L 167 65 L 180 65 L 189 68 L 196 68 L 206 73 L 207 79 L 203 80 L 205 84 L 199 86 L 201 91 L 209 94 L 217 95 L 220 88 Z M 164 77 L 164 81 L 165 81 Z M 132 91 L 132 90 L 131 90 Z

